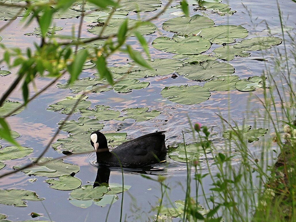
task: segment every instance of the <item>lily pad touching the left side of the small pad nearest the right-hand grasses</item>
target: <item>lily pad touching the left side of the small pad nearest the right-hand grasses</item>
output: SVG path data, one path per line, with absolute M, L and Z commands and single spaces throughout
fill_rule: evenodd
M 235 89 L 238 79 L 237 75 L 218 76 L 217 79 L 206 82 L 204 87 L 209 91 L 229 91 Z

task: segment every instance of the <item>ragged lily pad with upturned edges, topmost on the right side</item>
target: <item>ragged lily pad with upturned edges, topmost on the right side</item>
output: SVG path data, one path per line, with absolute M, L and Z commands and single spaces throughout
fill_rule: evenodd
M 223 16 L 226 14 L 233 15 L 235 10 L 231 11 L 228 4 L 218 3 L 218 2 L 208 2 L 208 1 L 198 1 L 200 7 L 194 9 L 196 10 L 210 10 L 212 9 L 214 12 L 218 13 L 219 15 Z

